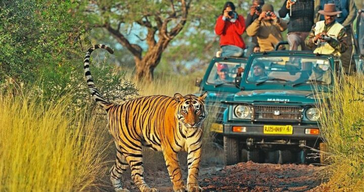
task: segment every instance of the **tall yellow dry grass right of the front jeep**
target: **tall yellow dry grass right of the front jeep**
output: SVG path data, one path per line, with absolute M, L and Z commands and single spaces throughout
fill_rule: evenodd
M 330 184 L 335 189 L 363 191 L 364 76 L 336 79 L 333 93 L 319 103 L 321 130 L 328 147 Z M 324 95 L 323 95 L 324 96 Z

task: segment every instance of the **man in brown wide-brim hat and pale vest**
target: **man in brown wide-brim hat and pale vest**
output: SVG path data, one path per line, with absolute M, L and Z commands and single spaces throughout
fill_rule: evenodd
M 348 47 L 345 29 L 336 21 L 341 11 L 336 10 L 335 4 L 325 4 L 324 10 L 319 13 L 324 15 L 325 21 L 319 21 L 313 25 L 305 44 L 310 49 L 314 49 L 313 53 L 340 57 Z

